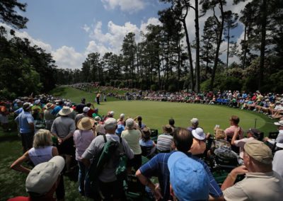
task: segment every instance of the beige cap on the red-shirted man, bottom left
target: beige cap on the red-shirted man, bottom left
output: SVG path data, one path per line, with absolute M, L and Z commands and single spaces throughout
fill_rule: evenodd
M 54 156 L 50 161 L 35 166 L 25 180 L 25 190 L 28 193 L 43 195 L 47 193 L 57 181 L 65 166 L 62 156 Z

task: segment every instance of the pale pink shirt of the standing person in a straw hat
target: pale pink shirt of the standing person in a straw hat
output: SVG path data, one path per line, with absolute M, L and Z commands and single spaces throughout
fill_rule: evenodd
M 86 151 L 91 141 L 95 138 L 93 130 L 76 130 L 73 137 L 76 146 L 76 161 L 81 161 L 81 155 L 83 155 L 83 152 Z

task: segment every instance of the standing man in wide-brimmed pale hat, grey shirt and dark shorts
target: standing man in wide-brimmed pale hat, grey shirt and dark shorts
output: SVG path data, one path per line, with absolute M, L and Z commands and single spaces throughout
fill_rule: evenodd
M 58 151 L 61 156 L 66 156 L 67 173 L 71 171 L 71 156 L 74 155 L 74 139 L 73 134 L 76 125 L 69 114 L 73 112 L 72 108 L 63 106 L 51 127 L 51 133 L 58 139 Z

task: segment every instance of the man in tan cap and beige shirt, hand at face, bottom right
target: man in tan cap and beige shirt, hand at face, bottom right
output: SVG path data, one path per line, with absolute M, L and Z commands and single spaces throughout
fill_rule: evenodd
M 258 140 L 246 142 L 244 166 L 234 168 L 221 186 L 225 200 L 282 200 L 283 179 L 272 171 L 272 151 Z M 246 178 L 233 184 L 238 175 Z

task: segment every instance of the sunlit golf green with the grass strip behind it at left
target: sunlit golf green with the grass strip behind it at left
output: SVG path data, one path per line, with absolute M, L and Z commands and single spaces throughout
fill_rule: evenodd
M 75 103 L 79 103 L 81 98 L 86 98 L 86 102 L 93 103 L 96 95 L 95 93 L 87 93 L 71 87 L 56 88 L 52 91 L 52 94 L 71 99 Z M 270 120 L 267 116 L 259 113 L 229 108 L 225 105 L 160 101 L 117 101 L 117 99 L 111 97 L 108 98 L 108 102 L 101 102 L 100 105 L 94 103 L 94 106 L 99 109 L 101 115 L 105 115 L 108 111 L 113 110 L 116 119 L 120 116 L 120 113 L 125 113 L 126 117 L 141 115 L 146 126 L 158 129 L 158 133 L 161 133 L 162 125 L 168 124 L 168 120 L 171 117 L 175 119 L 175 125 L 180 127 L 190 126 L 190 119 L 197 117 L 200 120 L 200 127 L 204 128 L 204 132 L 213 133 L 215 125 L 220 125 L 223 129 L 229 127 L 231 115 L 240 117 L 240 125 L 244 130 L 256 127 L 260 131 L 265 132 L 265 136 L 268 135 L 268 132 L 277 131 L 277 127 L 273 124 L 275 120 Z

